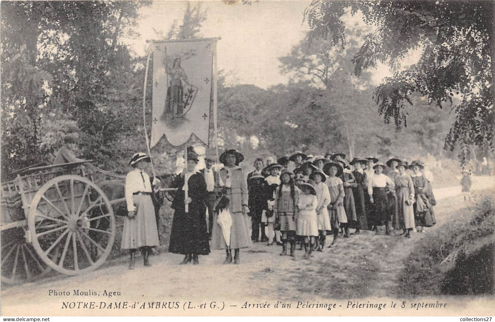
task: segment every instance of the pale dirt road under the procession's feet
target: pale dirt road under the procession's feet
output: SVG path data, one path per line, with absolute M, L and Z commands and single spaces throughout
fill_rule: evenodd
M 474 178 L 473 190 L 493 188 L 489 177 Z M 492 179 L 492 178 L 490 178 Z M 455 191 L 455 193 L 453 193 Z M 460 189 L 435 191 L 437 224 L 442 225 L 453 209 L 462 207 Z M 351 238 L 339 239 L 337 247 L 314 253 L 303 260 L 279 256 L 281 247 L 254 243 L 241 251 L 240 265 L 222 265 L 224 251 L 213 251 L 199 258 L 200 265 L 178 265 L 182 256 L 163 253 L 151 258 L 153 266 L 145 268 L 141 259 L 135 270 L 127 269 L 127 257 L 107 263 L 105 267 L 79 276 L 56 275 L 37 282 L 8 287 L 1 292 L 2 308 L 22 311 L 29 304 L 40 308 L 60 308 L 62 301 L 222 301 L 242 305 L 247 299 L 305 300 L 393 297 L 396 294 L 402 260 L 425 233 L 411 239 L 403 236 L 375 235 L 366 231 Z M 328 236 L 331 239 L 331 236 Z M 70 296 L 49 295 L 69 292 Z M 74 290 L 98 295 L 75 297 Z M 112 298 L 103 291 L 117 291 Z

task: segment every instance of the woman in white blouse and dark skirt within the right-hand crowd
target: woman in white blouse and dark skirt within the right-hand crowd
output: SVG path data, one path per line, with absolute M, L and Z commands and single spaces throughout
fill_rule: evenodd
M 375 173 L 368 179 L 368 194 L 370 195 L 370 203 L 373 205 L 374 225 L 378 226 L 385 225 L 386 234 L 389 235 L 389 220 L 390 220 L 390 209 L 389 209 L 389 199 L 387 197 L 387 190 L 394 190 L 394 181 L 383 174 L 383 169 L 385 165 L 382 162 L 378 162 L 373 165 Z M 395 192 L 393 192 L 395 193 Z

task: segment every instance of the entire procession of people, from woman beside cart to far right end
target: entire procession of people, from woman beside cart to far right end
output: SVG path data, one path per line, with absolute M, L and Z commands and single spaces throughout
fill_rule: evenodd
M 296 151 L 276 161 L 257 158 L 246 174 L 239 166 L 244 156 L 236 150 L 220 156 L 219 171 L 212 167 L 215 159 L 207 155 L 206 167 L 198 170 L 198 155 L 189 150 L 186 168 L 173 183 L 169 252 L 185 256 L 180 264 L 199 264 L 198 255 L 210 249 L 225 249 L 224 264 L 239 264 L 240 249 L 253 242 L 280 245 L 280 255 L 292 257 L 299 244 L 308 259 L 325 250 L 327 235 L 333 236 L 330 248 L 364 230 L 411 237 L 435 224 L 436 201 L 419 160 L 392 158 L 384 164 L 374 157 L 348 161 L 342 152 Z M 137 249 L 149 266 L 150 248 L 158 245 L 148 198 L 156 182 L 149 184 L 146 161 L 146 154 L 135 154 L 130 162 L 135 170 L 126 179 L 129 215 L 121 247 L 130 250 L 130 269 Z

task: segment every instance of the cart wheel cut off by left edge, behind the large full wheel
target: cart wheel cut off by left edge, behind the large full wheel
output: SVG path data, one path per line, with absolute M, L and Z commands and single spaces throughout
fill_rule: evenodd
M 26 228 L 1 231 L 1 282 L 21 284 L 46 275 L 51 268 L 41 260 L 33 246 L 26 242 Z

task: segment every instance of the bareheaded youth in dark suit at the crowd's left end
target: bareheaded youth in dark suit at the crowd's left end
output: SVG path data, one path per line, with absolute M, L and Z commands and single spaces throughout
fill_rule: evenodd
M 265 177 L 261 174 L 263 169 L 263 159 L 258 158 L 254 161 L 254 171 L 247 174 L 247 196 L 248 206 L 251 215 L 251 240 L 257 242 L 259 238 L 259 229 L 261 226 L 261 241 L 267 241 L 265 235 L 265 225 L 261 222 L 261 214 L 266 200 L 263 195 Z

